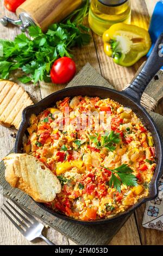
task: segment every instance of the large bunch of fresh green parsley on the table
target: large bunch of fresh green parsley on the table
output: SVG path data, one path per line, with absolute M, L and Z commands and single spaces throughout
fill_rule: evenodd
M 90 42 L 89 28 L 81 23 L 87 14 L 88 3 L 83 9 L 76 10 L 65 23 L 51 25 L 46 33 L 32 26 L 29 27 L 30 38 L 22 33 L 14 41 L 0 39 L 0 47 L 3 48 L 0 78 L 8 79 L 12 70 L 20 68 L 26 73 L 19 78 L 23 83 L 37 83 L 39 80 L 50 82 L 53 62 L 59 57 L 72 57 L 72 47 L 81 47 Z

